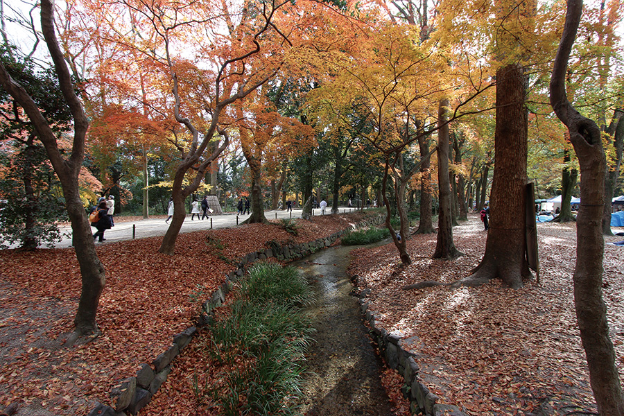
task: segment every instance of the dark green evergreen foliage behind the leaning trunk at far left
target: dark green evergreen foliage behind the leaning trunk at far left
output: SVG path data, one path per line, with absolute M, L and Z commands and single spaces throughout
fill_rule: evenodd
M 52 71 L 35 71 L 33 62 L 18 60 L 6 46 L 0 46 L 0 60 L 30 92 L 53 130 L 68 130 L 71 114 Z M 3 89 L 0 100 L 0 248 L 53 245 L 62 238 L 58 221 L 67 220 L 58 180 L 21 107 Z

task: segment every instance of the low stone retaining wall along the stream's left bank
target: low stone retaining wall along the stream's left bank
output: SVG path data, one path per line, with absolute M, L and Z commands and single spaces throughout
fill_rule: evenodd
M 381 223 L 383 216 L 374 216 L 358 223 L 358 227 Z M 229 293 L 236 281 L 243 276 L 245 268 L 257 260 L 275 257 L 279 261 L 293 261 L 306 257 L 322 248 L 329 247 L 338 237 L 347 232 L 335 232 L 330 236 L 302 244 L 279 245 L 270 241 L 270 248 L 247 254 L 236 265 L 236 270 L 230 272 L 219 288 L 202 304 L 202 313 L 198 318 L 198 327 L 207 325 L 213 319 L 214 310 L 225 302 L 225 295 Z M 144 408 L 156 394 L 162 383 L 166 381 L 171 372 L 170 364 L 176 356 L 187 347 L 193 336 L 197 333 L 197 327 L 189 327 L 173 336 L 173 342 L 168 349 L 157 356 L 152 363 L 139 364 L 139 371 L 135 376 L 116 381 L 110 392 L 112 406 L 97 403 L 88 413 L 88 416 L 125 416 L 128 413 L 136 415 Z

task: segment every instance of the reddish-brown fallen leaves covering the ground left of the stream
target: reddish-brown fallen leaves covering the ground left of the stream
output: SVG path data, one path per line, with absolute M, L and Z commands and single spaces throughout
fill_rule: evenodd
M 160 237 L 98 245 L 107 277 L 98 310 L 101 335 L 71 349 L 62 343 L 80 297 L 73 249 L 1 251 L 0 408 L 19 402 L 24 412 L 85 415 L 95 401 L 110 404 L 114 381 L 136 374 L 140 363 L 151 363 L 173 335 L 193 324 L 202 295 L 223 283 L 232 263 L 267 248 L 266 241 L 313 241 L 364 215 L 297 220 L 297 236 L 276 224 L 180 234 L 173 256 L 157 252 Z M 196 413 L 191 381 L 202 368 L 200 356 L 193 344 L 184 350 L 148 414 Z

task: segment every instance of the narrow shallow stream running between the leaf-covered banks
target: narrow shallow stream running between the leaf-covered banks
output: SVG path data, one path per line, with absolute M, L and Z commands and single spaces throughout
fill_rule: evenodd
M 306 416 L 393 415 L 357 297 L 349 294 L 346 270 L 353 248 L 327 248 L 291 264 L 302 270 L 316 298 L 308 309 L 317 332 L 304 386 Z

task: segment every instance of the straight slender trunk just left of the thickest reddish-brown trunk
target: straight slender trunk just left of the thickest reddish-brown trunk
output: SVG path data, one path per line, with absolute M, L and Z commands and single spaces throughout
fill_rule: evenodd
M 437 172 L 440 184 L 440 215 L 437 220 L 437 245 L 433 252 L 434 259 L 456 259 L 462 253 L 453 243 L 453 223 L 451 220 L 451 184 L 449 182 L 449 124 L 447 112 L 449 100 L 440 101 L 438 107 L 437 130 Z

